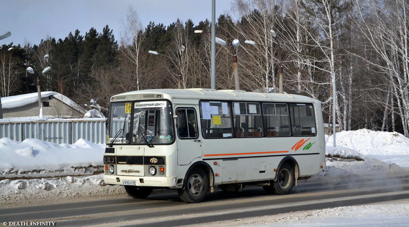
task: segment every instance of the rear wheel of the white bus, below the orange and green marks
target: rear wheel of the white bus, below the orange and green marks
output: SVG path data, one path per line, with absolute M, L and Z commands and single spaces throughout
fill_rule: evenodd
M 290 193 L 294 181 L 294 169 L 290 164 L 283 163 L 277 172 L 276 181 L 270 181 L 270 185 L 263 186 L 263 189 L 268 194 L 285 195 Z

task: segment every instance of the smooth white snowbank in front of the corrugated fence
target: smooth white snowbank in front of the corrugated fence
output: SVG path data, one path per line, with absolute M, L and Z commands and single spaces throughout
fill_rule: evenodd
M 72 145 L 58 145 L 38 139 L 25 139 L 20 143 L 4 137 L 0 139 L 0 176 L 84 172 L 87 167 L 102 167 L 104 150 L 105 144 L 85 139 L 79 139 Z

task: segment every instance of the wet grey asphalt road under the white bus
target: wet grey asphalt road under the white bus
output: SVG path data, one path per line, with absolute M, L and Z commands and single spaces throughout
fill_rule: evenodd
M 234 193 L 216 190 L 197 204 L 184 203 L 172 193 L 1 208 L 0 225 L 54 221 L 56 226 L 180 226 L 409 198 L 409 175 L 333 180 L 299 183 L 288 195 L 268 195 L 262 187 Z

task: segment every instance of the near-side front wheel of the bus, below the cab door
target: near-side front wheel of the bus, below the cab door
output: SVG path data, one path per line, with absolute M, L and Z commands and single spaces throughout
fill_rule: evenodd
M 179 197 L 186 203 L 199 203 L 209 190 L 209 177 L 201 168 L 194 168 L 188 174 L 183 189 L 178 189 Z

